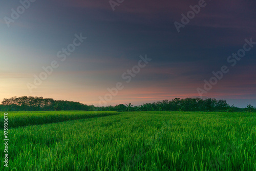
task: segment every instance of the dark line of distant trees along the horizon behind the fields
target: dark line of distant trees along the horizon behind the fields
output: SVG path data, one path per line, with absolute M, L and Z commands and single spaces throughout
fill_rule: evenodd
M 205 111 L 205 112 L 254 112 L 252 105 L 247 108 L 230 106 L 226 100 L 214 98 L 175 98 L 154 103 L 145 103 L 134 106 L 133 104 L 119 104 L 116 106 L 94 106 L 74 101 L 53 100 L 42 97 L 12 97 L 4 99 L 0 111 Z

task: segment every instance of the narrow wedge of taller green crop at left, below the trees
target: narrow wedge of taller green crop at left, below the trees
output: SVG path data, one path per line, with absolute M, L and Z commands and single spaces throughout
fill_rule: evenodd
M 117 115 L 117 112 L 87 111 L 51 111 L 51 112 L 8 112 L 8 127 L 38 125 L 68 120 L 85 119 Z M 0 128 L 4 128 L 4 117 L 0 119 Z

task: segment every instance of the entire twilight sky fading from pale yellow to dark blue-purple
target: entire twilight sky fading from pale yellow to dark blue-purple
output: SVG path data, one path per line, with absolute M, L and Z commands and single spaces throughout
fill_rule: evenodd
M 3 0 L 0 101 L 256 106 L 255 9 L 252 0 Z

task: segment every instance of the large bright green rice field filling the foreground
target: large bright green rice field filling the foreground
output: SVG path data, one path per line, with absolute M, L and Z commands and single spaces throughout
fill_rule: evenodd
M 123 112 L 16 127 L 9 170 L 256 170 L 255 125 L 255 113 Z

